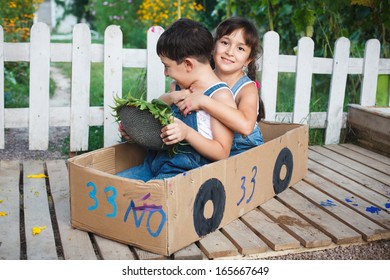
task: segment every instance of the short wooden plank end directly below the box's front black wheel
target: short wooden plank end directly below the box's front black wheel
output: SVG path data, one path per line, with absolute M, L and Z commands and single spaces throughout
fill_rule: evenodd
M 198 241 L 198 244 L 209 259 L 238 255 L 237 248 L 219 230 L 206 235 Z

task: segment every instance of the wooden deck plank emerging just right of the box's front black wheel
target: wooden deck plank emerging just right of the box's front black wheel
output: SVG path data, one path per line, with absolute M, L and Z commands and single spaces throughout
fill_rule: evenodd
M 221 231 L 238 248 L 238 252 L 242 255 L 263 253 L 269 249 L 267 244 L 240 219 L 224 226 Z

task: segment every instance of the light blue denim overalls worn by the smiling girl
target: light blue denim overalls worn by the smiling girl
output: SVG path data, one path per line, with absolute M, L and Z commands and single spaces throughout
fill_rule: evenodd
M 240 91 L 240 89 L 248 83 L 253 83 L 253 81 L 247 75 L 244 75 L 234 84 L 234 86 L 231 88 L 234 99 L 236 99 L 237 93 Z M 232 148 L 230 150 L 230 156 L 237 155 L 261 144 L 264 144 L 263 135 L 261 134 L 260 128 L 256 123 L 255 128 L 248 136 L 234 132 L 234 139 Z

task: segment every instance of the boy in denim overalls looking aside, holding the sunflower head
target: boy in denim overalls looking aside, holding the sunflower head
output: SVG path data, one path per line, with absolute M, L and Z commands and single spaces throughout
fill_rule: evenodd
M 166 76 L 182 88 L 196 88 L 207 98 L 236 108 L 232 92 L 210 66 L 212 49 L 210 32 L 189 19 L 174 22 L 157 42 Z M 176 105 L 167 103 L 172 105 L 174 122 L 162 128 L 161 138 L 166 145 L 181 142 L 178 152 L 171 155 L 166 150 L 150 150 L 143 164 L 121 171 L 118 176 L 143 181 L 163 179 L 229 156 L 233 140 L 230 129 L 204 111 L 184 116 Z

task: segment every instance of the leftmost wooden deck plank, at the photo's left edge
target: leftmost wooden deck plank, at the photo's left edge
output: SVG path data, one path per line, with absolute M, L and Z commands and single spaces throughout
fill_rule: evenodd
M 0 260 L 20 259 L 19 161 L 0 161 Z

